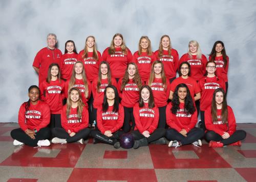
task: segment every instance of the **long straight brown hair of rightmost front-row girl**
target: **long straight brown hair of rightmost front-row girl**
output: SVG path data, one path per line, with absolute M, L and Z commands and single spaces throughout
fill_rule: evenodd
M 212 96 L 212 101 L 211 101 L 211 118 L 212 118 L 212 123 L 218 121 L 218 116 L 217 116 L 217 105 L 216 105 L 216 93 L 217 92 L 222 92 L 223 93 L 223 102 L 222 102 L 222 108 L 221 108 L 221 119 L 223 123 L 227 123 L 227 99 L 226 99 L 226 93 L 223 88 L 218 88 L 215 89 L 214 95 Z

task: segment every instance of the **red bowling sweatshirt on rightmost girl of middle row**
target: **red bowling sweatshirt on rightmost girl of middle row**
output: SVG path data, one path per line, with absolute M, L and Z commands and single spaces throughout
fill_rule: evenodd
M 217 88 L 223 88 L 226 91 L 226 85 L 221 77 L 203 77 L 198 86 L 201 88 L 200 110 L 205 111 L 211 106 L 212 95 Z

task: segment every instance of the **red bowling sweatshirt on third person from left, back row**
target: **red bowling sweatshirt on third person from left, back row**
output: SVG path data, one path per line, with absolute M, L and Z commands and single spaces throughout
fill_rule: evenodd
M 93 58 L 93 52 L 88 53 L 88 58 L 82 58 L 84 50 L 81 50 L 78 55 L 78 61 L 83 63 L 84 70 L 86 70 L 86 77 L 90 82 L 98 77 L 99 63 L 102 61 L 100 52 L 97 51 L 97 53 L 98 60 Z

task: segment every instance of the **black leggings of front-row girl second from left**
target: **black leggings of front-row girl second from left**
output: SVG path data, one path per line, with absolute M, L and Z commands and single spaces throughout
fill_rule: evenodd
M 89 128 L 81 129 L 79 132 L 77 132 L 73 137 L 71 137 L 65 129 L 54 127 L 52 128 L 52 133 L 55 137 L 61 138 L 61 139 L 67 139 L 67 143 L 77 142 L 80 139 L 86 140 L 90 134 Z

